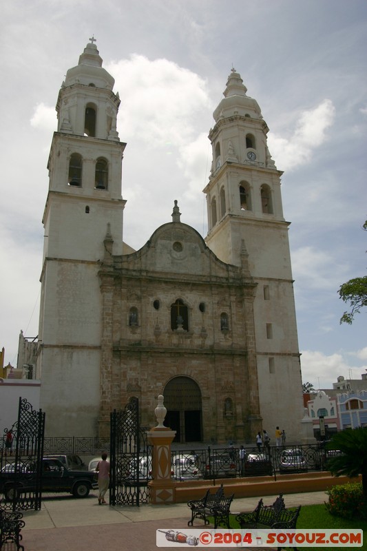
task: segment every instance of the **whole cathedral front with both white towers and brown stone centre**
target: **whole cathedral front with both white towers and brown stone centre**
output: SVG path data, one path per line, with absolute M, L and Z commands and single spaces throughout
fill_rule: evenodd
M 123 242 L 120 100 L 93 41 L 67 71 L 48 163 L 36 377 L 47 435 L 109 435 L 129 397 L 176 441 L 299 439 L 300 354 L 281 171 L 258 103 L 231 71 L 209 132 L 204 240 L 178 201 L 147 243 Z

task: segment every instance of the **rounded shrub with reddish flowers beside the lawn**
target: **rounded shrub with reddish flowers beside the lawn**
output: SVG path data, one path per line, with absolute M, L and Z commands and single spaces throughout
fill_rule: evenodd
M 361 482 L 334 486 L 327 494 L 326 508 L 330 514 L 344 519 L 367 519 L 367 501 Z

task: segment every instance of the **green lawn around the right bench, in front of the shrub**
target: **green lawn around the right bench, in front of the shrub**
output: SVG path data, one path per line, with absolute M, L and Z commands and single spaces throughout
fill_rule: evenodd
M 230 515 L 230 525 L 231 528 L 240 528 L 238 522 L 235 520 L 235 515 Z M 211 523 L 214 523 L 214 519 L 210 518 Z M 350 530 L 357 530 L 361 529 L 365 532 L 367 530 L 367 521 L 357 519 L 342 519 L 342 517 L 334 517 L 331 515 L 328 510 L 326 509 L 326 506 L 321 505 L 302 505 L 300 516 L 297 520 L 297 529 L 306 529 L 306 528 L 312 528 L 317 530 L 317 528 L 324 529 L 328 528 L 331 530 L 345 530 L 346 528 Z M 292 550 L 293 548 L 284 548 L 287 550 Z M 300 548 L 302 549 L 302 548 Z M 321 548 L 319 547 L 308 547 L 303 548 L 307 549 L 307 551 L 319 551 Z M 332 548 L 325 548 L 326 550 L 331 550 Z M 342 546 L 338 546 L 338 549 L 343 549 Z M 345 549 L 351 549 L 351 548 L 345 548 Z M 363 551 L 367 551 L 367 541 L 364 539 L 364 543 L 362 547 L 356 548 Z

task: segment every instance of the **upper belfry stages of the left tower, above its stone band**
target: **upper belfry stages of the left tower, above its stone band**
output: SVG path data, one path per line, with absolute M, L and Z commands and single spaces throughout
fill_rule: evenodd
M 78 65 L 67 71 L 56 103 L 58 128 L 43 215 L 45 256 L 98 260 L 107 222 L 114 253 L 123 249 L 121 163 L 126 144 L 116 132 L 120 98 L 112 92 L 114 79 L 91 40 Z

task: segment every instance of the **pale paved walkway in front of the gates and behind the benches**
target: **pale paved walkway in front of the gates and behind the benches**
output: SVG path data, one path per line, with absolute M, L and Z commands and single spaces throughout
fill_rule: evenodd
M 264 503 L 271 504 L 276 497 L 266 496 Z M 251 511 L 259 499 L 234 499 L 231 512 Z M 326 492 L 284 496 L 286 507 L 324 503 L 327 500 Z M 186 503 L 144 504 L 140 507 L 98 506 L 94 492 L 85 499 L 72 496 L 45 498 L 40 511 L 23 513 L 25 528 L 21 532 L 22 543 L 25 551 L 156 551 L 156 530 L 171 528 L 189 534 L 187 521 L 190 515 Z M 193 526 L 203 527 L 199 520 Z M 180 547 L 180 544 L 172 543 L 171 546 Z M 259 551 L 260 548 L 256 549 Z

